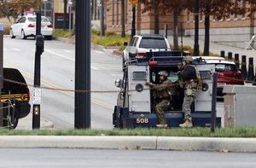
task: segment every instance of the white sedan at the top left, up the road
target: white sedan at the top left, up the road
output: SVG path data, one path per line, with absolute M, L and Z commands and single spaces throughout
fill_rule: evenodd
M 10 26 L 9 34 L 10 38 L 20 36 L 23 39 L 27 37 L 36 36 L 36 15 L 24 15 L 15 22 L 14 25 Z M 52 38 L 53 25 L 49 22 L 47 17 L 42 16 L 41 21 L 41 33 L 46 39 Z

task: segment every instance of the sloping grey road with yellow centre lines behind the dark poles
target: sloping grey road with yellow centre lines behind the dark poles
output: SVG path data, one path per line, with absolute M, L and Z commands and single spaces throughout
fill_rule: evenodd
M 16 67 L 33 84 L 35 40 L 4 38 L 4 67 Z M 41 117 L 54 122 L 55 128 L 73 128 L 75 45 L 45 41 L 41 56 Z M 91 90 L 118 90 L 114 81 L 120 78 L 120 58 L 102 49 L 91 49 Z M 53 89 L 53 90 L 52 90 Z M 32 95 L 32 87 L 30 87 Z M 91 94 L 91 128 L 111 129 L 113 106 L 117 93 Z M 32 102 L 31 102 L 32 103 Z

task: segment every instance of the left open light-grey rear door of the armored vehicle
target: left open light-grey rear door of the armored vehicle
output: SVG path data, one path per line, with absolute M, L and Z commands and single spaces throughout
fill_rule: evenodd
M 150 113 L 150 90 L 148 66 L 128 66 L 128 107 L 130 112 Z

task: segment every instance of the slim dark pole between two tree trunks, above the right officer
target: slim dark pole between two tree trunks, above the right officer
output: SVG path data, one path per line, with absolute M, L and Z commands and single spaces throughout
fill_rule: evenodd
M 199 56 L 198 31 L 199 31 L 199 0 L 195 0 L 195 43 L 194 43 L 195 56 Z

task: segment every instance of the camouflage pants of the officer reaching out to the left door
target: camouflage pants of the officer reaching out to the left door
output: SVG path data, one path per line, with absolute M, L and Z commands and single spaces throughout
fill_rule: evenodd
M 170 106 L 170 101 L 168 101 L 168 100 L 162 100 L 162 101 L 160 101 L 160 103 L 158 103 L 155 106 L 155 112 L 156 112 L 156 115 L 157 115 L 160 125 L 167 124 L 164 110 L 167 110 L 169 106 Z

